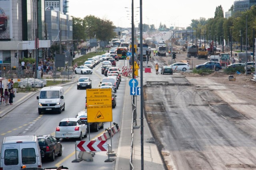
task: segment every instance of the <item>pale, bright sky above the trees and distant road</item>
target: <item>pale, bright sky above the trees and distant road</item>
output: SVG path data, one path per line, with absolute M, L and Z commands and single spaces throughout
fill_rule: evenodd
M 217 6 L 225 12 L 234 0 L 142 0 L 142 23 L 156 28 L 188 27 L 191 20 L 213 18 Z M 88 15 L 107 19 L 116 27 L 131 27 L 132 0 L 69 0 L 69 15 L 84 18 Z M 134 0 L 134 24 L 140 22 L 140 0 Z

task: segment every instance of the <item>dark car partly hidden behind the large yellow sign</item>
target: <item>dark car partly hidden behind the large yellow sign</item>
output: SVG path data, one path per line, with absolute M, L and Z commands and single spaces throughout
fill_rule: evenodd
M 76 115 L 77 118 L 79 118 L 83 124 L 87 125 L 89 127 L 89 124 L 87 122 L 87 111 L 80 111 Z M 90 123 L 90 130 L 95 130 L 96 132 L 99 131 L 99 129 L 104 128 L 104 122 L 93 122 Z

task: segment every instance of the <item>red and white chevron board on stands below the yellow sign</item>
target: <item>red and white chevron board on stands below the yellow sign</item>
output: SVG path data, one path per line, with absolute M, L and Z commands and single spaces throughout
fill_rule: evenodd
M 77 151 L 107 151 L 107 141 L 76 141 Z

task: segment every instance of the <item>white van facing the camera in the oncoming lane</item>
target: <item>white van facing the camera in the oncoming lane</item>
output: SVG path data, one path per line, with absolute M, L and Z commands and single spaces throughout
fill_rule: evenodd
M 38 99 L 38 113 L 58 112 L 65 110 L 64 90 L 61 86 L 44 87 Z

